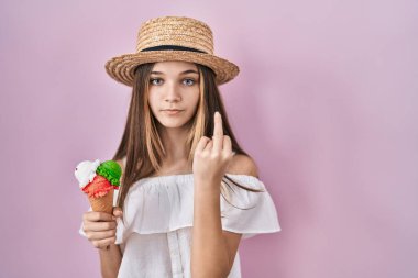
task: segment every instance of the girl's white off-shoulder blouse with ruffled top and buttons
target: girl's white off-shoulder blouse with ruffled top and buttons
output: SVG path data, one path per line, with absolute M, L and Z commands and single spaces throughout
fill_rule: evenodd
M 241 185 L 266 190 L 256 177 L 227 174 Z M 276 208 L 267 191 L 251 192 L 229 182 L 233 190 L 220 196 L 222 230 L 241 233 L 242 240 L 279 232 Z M 232 191 L 231 193 L 228 193 Z M 118 190 L 113 203 L 117 203 Z M 91 208 L 90 208 L 91 210 Z M 194 220 L 194 176 L 179 174 L 136 181 L 125 198 L 124 220 L 118 219 L 117 241 L 122 263 L 118 278 L 189 278 Z M 82 224 L 79 233 L 84 236 Z M 241 278 L 237 252 L 229 278 Z

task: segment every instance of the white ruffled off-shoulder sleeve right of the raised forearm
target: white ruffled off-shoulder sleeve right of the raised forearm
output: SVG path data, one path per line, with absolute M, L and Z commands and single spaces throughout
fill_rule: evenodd
M 242 186 L 264 191 L 252 192 L 229 181 L 230 187 L 226 187 L 228 201 L 221 198 L 222 229 L 243 234 L 243 240 L 261 233 L 279 232 L 276 208 L 264 184 L 253 176 L 228 176 Z

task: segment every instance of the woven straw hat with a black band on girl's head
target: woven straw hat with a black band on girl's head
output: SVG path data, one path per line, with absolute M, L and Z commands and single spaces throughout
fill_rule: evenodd
M 132 86 L 135 67 L 145 63 L 183 60 L 210 67 L 218 85 L 240 71 L 233 63 L 213 55 L 210 27 L 185 16 L 162 16 L 144 22 L 138 34 L 136 52 L 111 58 L 106 71 L 114 80 Z

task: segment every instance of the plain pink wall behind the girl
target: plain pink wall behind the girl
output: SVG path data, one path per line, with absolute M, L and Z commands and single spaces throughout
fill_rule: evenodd
M 243 277 L 418 277 L 411 0 L 1 1 L 0 276 L 99 276 L 73 170 L 113 155 L 130 89 L 103 65 L 161 15 L 241 68 L 220 88 L 283 229 L 242 242 Z

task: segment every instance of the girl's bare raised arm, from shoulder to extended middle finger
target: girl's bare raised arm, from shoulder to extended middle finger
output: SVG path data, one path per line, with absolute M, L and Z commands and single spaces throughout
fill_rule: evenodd
M 229 166 L 230 165 L 230 166 Z M 231 271 L 241 235 L 222 231 L 220 186 L 224 173 L 256 174 L 250 157 L 234 156 L 229 136 L 223 135 L 222 119 L 215 114 L 213 140 L 202 136 L 194 157 L 194 229 L 191 276 L 224 278 Z

